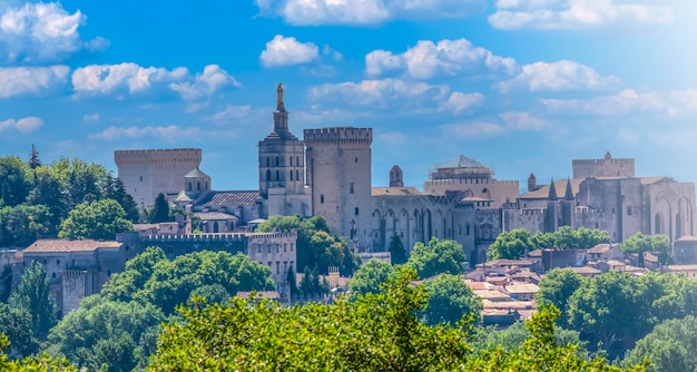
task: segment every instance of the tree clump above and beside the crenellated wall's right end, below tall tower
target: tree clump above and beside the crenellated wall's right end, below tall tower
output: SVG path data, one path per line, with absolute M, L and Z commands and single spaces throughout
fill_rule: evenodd
M 330 267 L 338 267 L 342 276 L 351 276 L 361 264 L 361 260 L 348 248 L 345 241 L 332 234 L 326 221 L 315 216 L 305 218 L 295 216 L 272 216 L 258 226 L 257 232 L 297 231 L 297 271 L 306 268 L 321 275 L 328 274 Z

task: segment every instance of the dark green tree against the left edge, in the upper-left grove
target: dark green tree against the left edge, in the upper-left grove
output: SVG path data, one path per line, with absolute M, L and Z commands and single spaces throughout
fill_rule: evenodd
M 27 164 L 17 156 L 0 157 L 0 205 L 24 203 L 30 190 L 27 170 Z

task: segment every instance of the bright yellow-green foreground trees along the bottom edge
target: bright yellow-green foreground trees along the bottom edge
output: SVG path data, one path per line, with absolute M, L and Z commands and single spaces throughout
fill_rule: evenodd
M 558 343 L 542 310 L 510 347 L 477 347 L 471 323 L 426 325 L 419 315 L 429 293 L 400 270 L 384 292 L 331 305 L 278 307 L 235 300 L 226 306 L 180 309 L 185 322 L 167 324 L 150 371 L 620 371 L 578 345 Z M 641 366 L 631 368 L 639 371 Z

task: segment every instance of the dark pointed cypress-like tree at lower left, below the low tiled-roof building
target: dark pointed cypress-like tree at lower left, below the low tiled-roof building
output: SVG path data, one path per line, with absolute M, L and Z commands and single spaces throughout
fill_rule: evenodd
M 17 291 L 10 295 L 9 304 L 16 309 L 26 309 L 31 314 L 33 335 L 46 340 L 48 331 L 56 324 L 56 304 L 42 264 L 32 261 L 24 268 Z

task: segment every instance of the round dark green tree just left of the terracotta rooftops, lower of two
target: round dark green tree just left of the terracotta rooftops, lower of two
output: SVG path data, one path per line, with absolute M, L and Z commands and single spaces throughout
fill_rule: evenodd
M 454 326 L 463 316 L 472 316 L 470 321 L 481 319 L 481 301 L 459 275 L 443 274 L 424 282 L 424 286 L 429 302 L 421 317 L 426 324 L 445 323 Z

